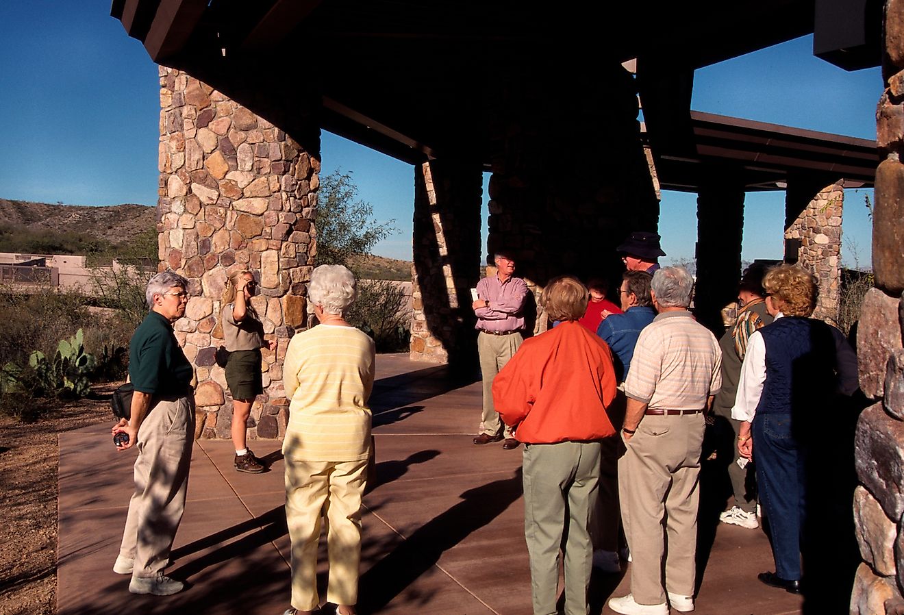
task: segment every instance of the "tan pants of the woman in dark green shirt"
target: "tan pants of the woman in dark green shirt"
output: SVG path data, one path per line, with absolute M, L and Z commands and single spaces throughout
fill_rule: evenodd
M 194 443 L 194 400 L 157 401 L 138 429 L 135 493 L 128 503 L 119 554 L 133 576 L 163 572 L 185 510 Z

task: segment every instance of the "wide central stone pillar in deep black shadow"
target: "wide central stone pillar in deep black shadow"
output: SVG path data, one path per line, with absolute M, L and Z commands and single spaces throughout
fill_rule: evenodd
M 614 291 L 624 270 L 617 245 L 659 218 L 636 84 L 617 63 L 574 80 L 544 61 L 525 59 L 531 71 L 504 75 L 489 93 L 497 109 L 488 252 L 513 252 L 535 299 L 561 274 L 607 276 Z M 545 315 L 528 326 L 544 330 Z

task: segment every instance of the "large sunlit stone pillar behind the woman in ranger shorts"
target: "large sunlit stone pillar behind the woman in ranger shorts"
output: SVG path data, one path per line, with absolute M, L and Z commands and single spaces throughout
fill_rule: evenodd
M 282 359 L 305 322 L 305 283 L 319 152 L 182 71 L 160 67 L 160 270 L 188 279 L 192 298 L 175 335 L 197 375 L 196 436 L 229 438 L 232 400 L 216 351 L 221 294 L 234 270 L 258 272 L 251 299 L 276 352 L 263 349 L 264 393 L 251 409 L 251 439 L 281 437 L 288 403 Z

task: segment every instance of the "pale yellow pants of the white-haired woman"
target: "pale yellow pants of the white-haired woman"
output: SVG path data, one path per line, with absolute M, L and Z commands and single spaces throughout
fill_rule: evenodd
M 286 521 L 292 541 L 292 606 L 314 610 L 317 595 L 317 544 L 326 520 L 330 572 L 326 601 L 358 601 L 361 563 L 361 498 L 367 459 L 304 461 L 286 455 Z

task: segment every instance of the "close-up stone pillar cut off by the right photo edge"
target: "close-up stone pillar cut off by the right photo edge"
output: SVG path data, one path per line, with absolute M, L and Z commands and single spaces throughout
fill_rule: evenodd
M 854 501 L 863 563 L 852 615 L 904 612 L 904 1 L 885 3 L 882 74 L 876 113 L 882 162 L 876 171 L 872 268 L 876 288 L 863 299 L 857 332 L 860 385 L 875 403 L 857 423 Z

